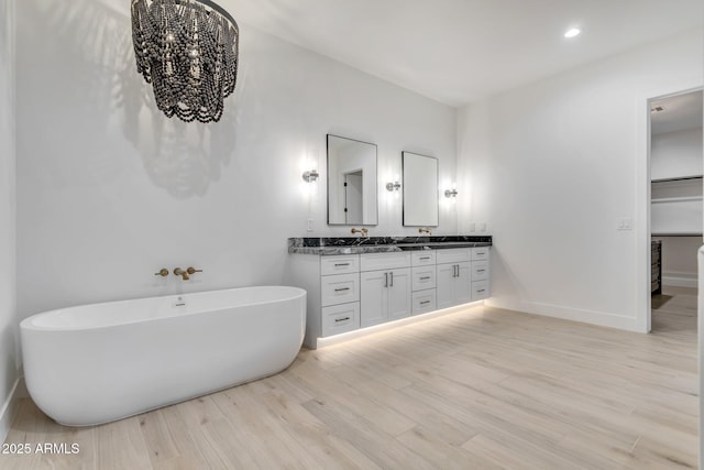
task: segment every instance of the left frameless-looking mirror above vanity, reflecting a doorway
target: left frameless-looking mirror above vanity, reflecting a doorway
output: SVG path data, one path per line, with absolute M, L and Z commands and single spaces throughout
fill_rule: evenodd
M 376 226 L 376 145 L 328 134 L 328 225 Z

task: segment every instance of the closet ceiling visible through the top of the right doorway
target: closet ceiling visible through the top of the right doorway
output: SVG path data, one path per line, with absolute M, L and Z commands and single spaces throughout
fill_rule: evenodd
M 702 127 L 702 91 L 675 95 L 650 103 L 650 109 L 662 108 L 650 113 L 653 134 L 683 131 Z

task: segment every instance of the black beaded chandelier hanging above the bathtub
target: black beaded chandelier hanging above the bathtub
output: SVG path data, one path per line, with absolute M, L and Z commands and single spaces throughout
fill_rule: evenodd
M 132 0 L 136 72 L 169 118 L 220 120 L 237 81 L 239 35 L 230 13 L 210 0 Z

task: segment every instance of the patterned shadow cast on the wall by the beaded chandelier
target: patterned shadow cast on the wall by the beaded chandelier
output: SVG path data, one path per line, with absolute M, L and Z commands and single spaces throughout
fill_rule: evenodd
M 44 30 L 76 62 L 76 86 L 85 108 L 107 143 L 117 132 L 142 159 L 152 183 L 176 198 L 202 196 L 220 178 L 235 147 L 239 116 L 235 96 L 226 101 L 217 123 L 186 123 L 166 118 L 154 102 L 151 85 L 138 74 L 132 46 L 130 4 L 103 1 L 32 2 Z

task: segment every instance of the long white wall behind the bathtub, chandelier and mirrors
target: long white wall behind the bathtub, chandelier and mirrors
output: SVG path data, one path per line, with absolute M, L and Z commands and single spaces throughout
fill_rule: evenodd
M 18 4 L 18 308 L 282 282 L 288 237 L 326 226 L 326 134 L 378 145 L 380 225 L 402 227 L 403 150 L 455 170 L 455 110 L 241 25 L 241 69 L 217 124 L 154 111 L 129 2 Z M 41 33 L 38 33 L 41 32 Z M 51 41 L 46 39 L 51 37 Z M 317 190 L 301 174 L 317 162 Z M 310 198 L 310 199 L 309 199 Z M 314 219 L 314 232 L 306 220 Z M 457 233 L 453 207 L 440 233 Z M 161 267 L 204 270 L 184 283 Z

